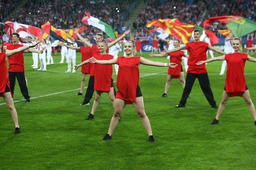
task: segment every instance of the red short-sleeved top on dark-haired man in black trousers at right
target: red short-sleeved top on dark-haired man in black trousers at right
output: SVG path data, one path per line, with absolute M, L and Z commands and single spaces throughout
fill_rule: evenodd
M 198 61 L 204 61 L 207 59 L 206 51 L 208 50 L 208 43 L 206 42 L 188 42 L 186 43 L 186 49 L 189 52 L 189 58 L 187 60 L 188 70 L 187 73 L 204 74 L 207 73 L 205 64 L 196 65 Z

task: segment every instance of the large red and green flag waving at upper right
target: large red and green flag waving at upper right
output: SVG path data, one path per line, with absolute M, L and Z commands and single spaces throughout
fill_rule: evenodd
M 203 27 L 209 26 L 213 21 L 219 21 L 226 24 L 226 27 L 235 37 L 243 37 L 251 32 L 256 31 L 256 23 L 241 16 L 217 16 L 203 22 Z

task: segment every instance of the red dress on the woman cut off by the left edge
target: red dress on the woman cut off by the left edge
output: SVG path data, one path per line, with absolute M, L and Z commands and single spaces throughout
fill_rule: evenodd
M 7 61 L 6 59 L 6 53 L 0 53 L 0 97 L 2 97 L 1 93 L 5 93 L 5 88 L 6 85 L 9 87 L 10 89 L 10 82 L 9 82 L 9 77 L 7 74 Z M 10 90 L 11 92 L 11 90 Z M 11 94 L 12 97 L 12 94 Z

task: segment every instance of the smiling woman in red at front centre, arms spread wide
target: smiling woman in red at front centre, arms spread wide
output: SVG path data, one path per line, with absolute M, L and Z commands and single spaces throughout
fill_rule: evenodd
M 117 126 L 118 118 L 122 114 L 122 111 L 126 104 L 133 104 L 137 114 L 139 115 L 148 135 L 149 142 L 156 142 L 152 135 L 149 119 L 144 110 L 143 97 L 139 87 L 139 64 L 152 65 L 152 66 L 169 66 L 175 68 L 175 63 L 161 63 L 154 62 L 143 57 L 133 56 L 136 51 L 134 41 L 128 41 L 124 44 L 124 51 L 126 57 L 118 57 L 111 60 L 97 60 L 95 58 L 90 59 L 90 62 L 99 64 L 118 64 L 119 70 L 117 75 L 117 95 L 115 101 L 115 111 L 111 119 L 108 133 L 102 140 L 110 140 L 112 133 Z

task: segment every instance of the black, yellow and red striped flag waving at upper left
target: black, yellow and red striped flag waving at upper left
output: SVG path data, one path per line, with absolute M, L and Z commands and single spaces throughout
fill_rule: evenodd
M 55 38 L 56 40 L 70 43 L 67 41 L 67 35 L 64 30 L 54 28 L 51 23 L 48 21 L 47 23 L 41 25 L 42 29 L 51 37 Z

